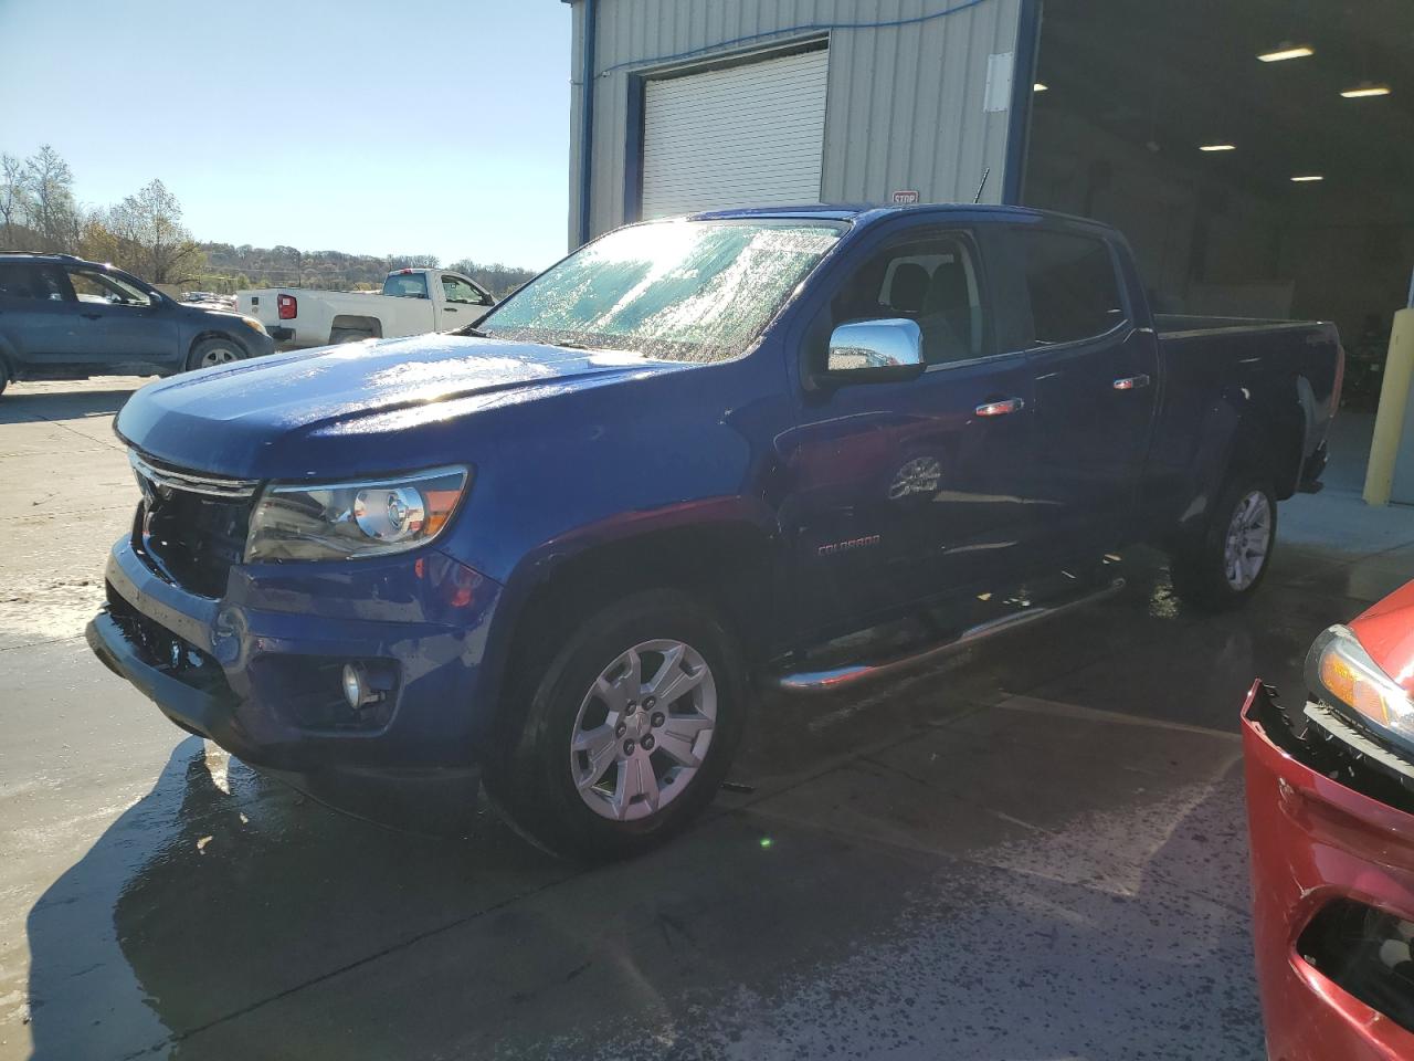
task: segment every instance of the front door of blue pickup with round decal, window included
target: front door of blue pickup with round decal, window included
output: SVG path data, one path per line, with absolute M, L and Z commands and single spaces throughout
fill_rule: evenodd
M 933 229 L 874 252 L 813 327 L 913 321 L 926 368 L 802 395 L 783 454 L 802 630 L 1000 589 L 1021 566 L 1032 373 L 1024 352 L 998 347 L 988 289 L 976 233 Z

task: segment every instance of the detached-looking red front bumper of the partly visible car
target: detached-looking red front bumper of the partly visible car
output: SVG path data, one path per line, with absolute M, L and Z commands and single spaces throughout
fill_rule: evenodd
M 1414 792 L 1261 682 L 1241 729 L 1270 1057 L 1414 1058 Z

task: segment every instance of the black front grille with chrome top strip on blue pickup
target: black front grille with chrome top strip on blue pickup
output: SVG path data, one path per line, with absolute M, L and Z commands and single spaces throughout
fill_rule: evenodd
M 245 555 L 257 482 L 163 468 L 129 456 L 143 504 L 133 547 L 160 577 L 202 597 L 221 597 Z

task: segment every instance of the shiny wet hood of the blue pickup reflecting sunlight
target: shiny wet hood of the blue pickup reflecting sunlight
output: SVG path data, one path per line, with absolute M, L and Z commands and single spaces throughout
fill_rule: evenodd
M 115 429 L 148 458 L 180 468 L 327 478 L 465 460 L 468 417 L 687 368 L 624 351 L 458 335 L 372 340 L 151 383 L 123 406 Z

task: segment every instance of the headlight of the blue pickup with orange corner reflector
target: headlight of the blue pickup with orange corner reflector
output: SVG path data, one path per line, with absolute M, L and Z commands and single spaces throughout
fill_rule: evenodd
M 348 560 L 416 549 L 441 533 L 469 484 L 465 467 L 366 482 L 271 482 L 250 515 L 246 563 Z

